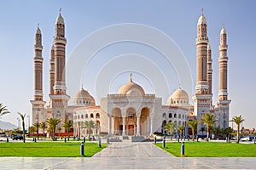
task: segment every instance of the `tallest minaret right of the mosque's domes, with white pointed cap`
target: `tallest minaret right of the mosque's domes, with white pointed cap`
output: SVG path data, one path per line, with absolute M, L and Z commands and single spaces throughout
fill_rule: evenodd
M 201 16 L 197 23 L 196 42 L 196 86 L 194 100 L 194 113 L 197 120 L 205 113 L 210 113 L 212 94 L 209 94 L 207 82 L 207 19 L 201 10 Z M 201 133 L 203 123 L 198 123 L 197 134 Z

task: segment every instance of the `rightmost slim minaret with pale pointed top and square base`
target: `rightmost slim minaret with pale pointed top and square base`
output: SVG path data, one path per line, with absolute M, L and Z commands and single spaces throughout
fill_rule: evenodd
M 227 31 L 224 27 L 220 31 L 218 50 L 218 122 L 220 128 L 227 128 L 229 127 L 231 100 L 228 99 L 228 45 Z

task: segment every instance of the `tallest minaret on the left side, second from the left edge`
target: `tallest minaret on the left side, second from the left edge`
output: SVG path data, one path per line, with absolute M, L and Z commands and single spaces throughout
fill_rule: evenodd
M 70 99 L 66 94 L 66 44 L 65 23 L 60 10 L 60 14 L 55 20 L 55 84 L 53 94 L 50 94 L 49 98 L 50 107 L 52 108 L 52 117 L 60 118 L 61 122 L 67 120 L 67 102 Z M 64 130 L 65 129 L 62 127 L 61 132 L 64 132 Z

